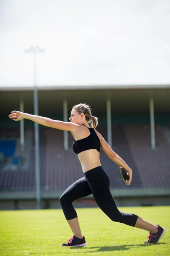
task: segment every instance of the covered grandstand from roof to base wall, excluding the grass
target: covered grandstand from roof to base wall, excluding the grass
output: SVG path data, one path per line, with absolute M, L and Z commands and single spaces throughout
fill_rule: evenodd
M 38 87 L 38 113 L 68 121 L 73 105 L 88 103 L 99 118 L 97 131 L 133 170 L 133 181 L 126 186 L 119 167 L 101 152 L 117 205 L 169 205 L 169 99 L 169 85 Z M 71 133 L 39 125 L 38 177 L 34 123 L 8 119 L 12 110 L 34 113 L 34 87 L 1 87 L 0 109 L 0 209 L 36 209 L 37 178 L 40 208 L 60 208 L 59 196 L 82 177 Z M 96 203 L 89 196 L 75 206 Z

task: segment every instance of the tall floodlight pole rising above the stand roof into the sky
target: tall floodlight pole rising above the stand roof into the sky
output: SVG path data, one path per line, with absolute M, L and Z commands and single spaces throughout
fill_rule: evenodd
M 34 68 L 34 115 L 38 116 L 38 88 L 37 88 L 37 52 L 44 52 L 38 46 L 31 47 L 25 52 L 33 54 Z M 39 125 L 34 122 L 34 139 L 35 139 L 35 182 L 36 182 L 36 205 L 37 209 L 41 209 L 40 195 L 40 148 L 39 148 Z

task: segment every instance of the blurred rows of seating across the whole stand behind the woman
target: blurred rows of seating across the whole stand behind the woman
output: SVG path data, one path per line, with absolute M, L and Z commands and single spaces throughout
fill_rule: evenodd
M 97 128 L 107 140 L 106 126 Z M 168 188 L 170 179 L 170 143 L 160 126 L 156 127 L 156 149 L 150 148 L 150 127 L 147 125 L 115 125 L 112 127 L 113 150 L 133 169 L 133 188 Z M 0 191 L 35 191 L 34 129 L 27 133 L 28 151 L 23 154 L 23 165 L 18 165 L 17 156 L 12 158 L 17 169 L 3 169 L 0 165 Z M 15 131 L 18 134 L 18 131 Z M 31 135 L 32 134 L 32 135 Z M 16 136 L 17 138 L 17 136 Z M 14 139 L 14 137 L 13 137 Z M 73 137 L 68 133 L 69 150 L 63 148 L 63 131 L 52 128 L 40 129 L 40 183 L 42 191 L 65 190 L 75 180 L 83 177 L 77 154 L 72 150 Z M 11 143 L 12 141 L 12 143 Z M 13 155 L 16 140 L 11 140 Z M 2 140 L 0 141 L 2 148 Z M 4 154 L 4 153 L 3 153 Z M 1 159 L 1 158 L 0 158 Z M 2 157 L 3 159 L 3 157 Z M 0 160 L 1 161 L 1 160 Z M 125 189 L 119 167 L 101 150 L 101 164 L 110 177 L 111 189 Z M 22 168 L 22 166 L 25 166 Z

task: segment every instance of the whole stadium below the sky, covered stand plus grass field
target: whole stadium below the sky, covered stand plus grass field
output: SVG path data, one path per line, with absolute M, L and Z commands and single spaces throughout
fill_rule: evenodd
M 68 121 L 73 105 L 91 106 L 92 115 L 99 118 L 96 130 L 133 170 L 132 183 L 126 186 L 119 166 L 101 152 L 117 206 L 166 228 L 161 243 L 144 245 L 147 231 L 113 223 L 88 196 L 74 202 L 88 246 L 63 250 L 60 244 L 71 230 L 59 197 L 83 176 L 72 150 L 73 137 L 39 125 L 37 169 L 34 123 L 8 119 L 13 110 L 34 113 L 34 87 L 1 87 L 0 255 L 168 255 L 169 99 L 168 85 L 38 87 L 40 116 Z

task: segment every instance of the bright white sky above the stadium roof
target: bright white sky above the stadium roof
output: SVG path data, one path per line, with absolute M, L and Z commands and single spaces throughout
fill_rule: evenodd
M 170 0 L 0 0 L 0 87 L 170 83 Z

